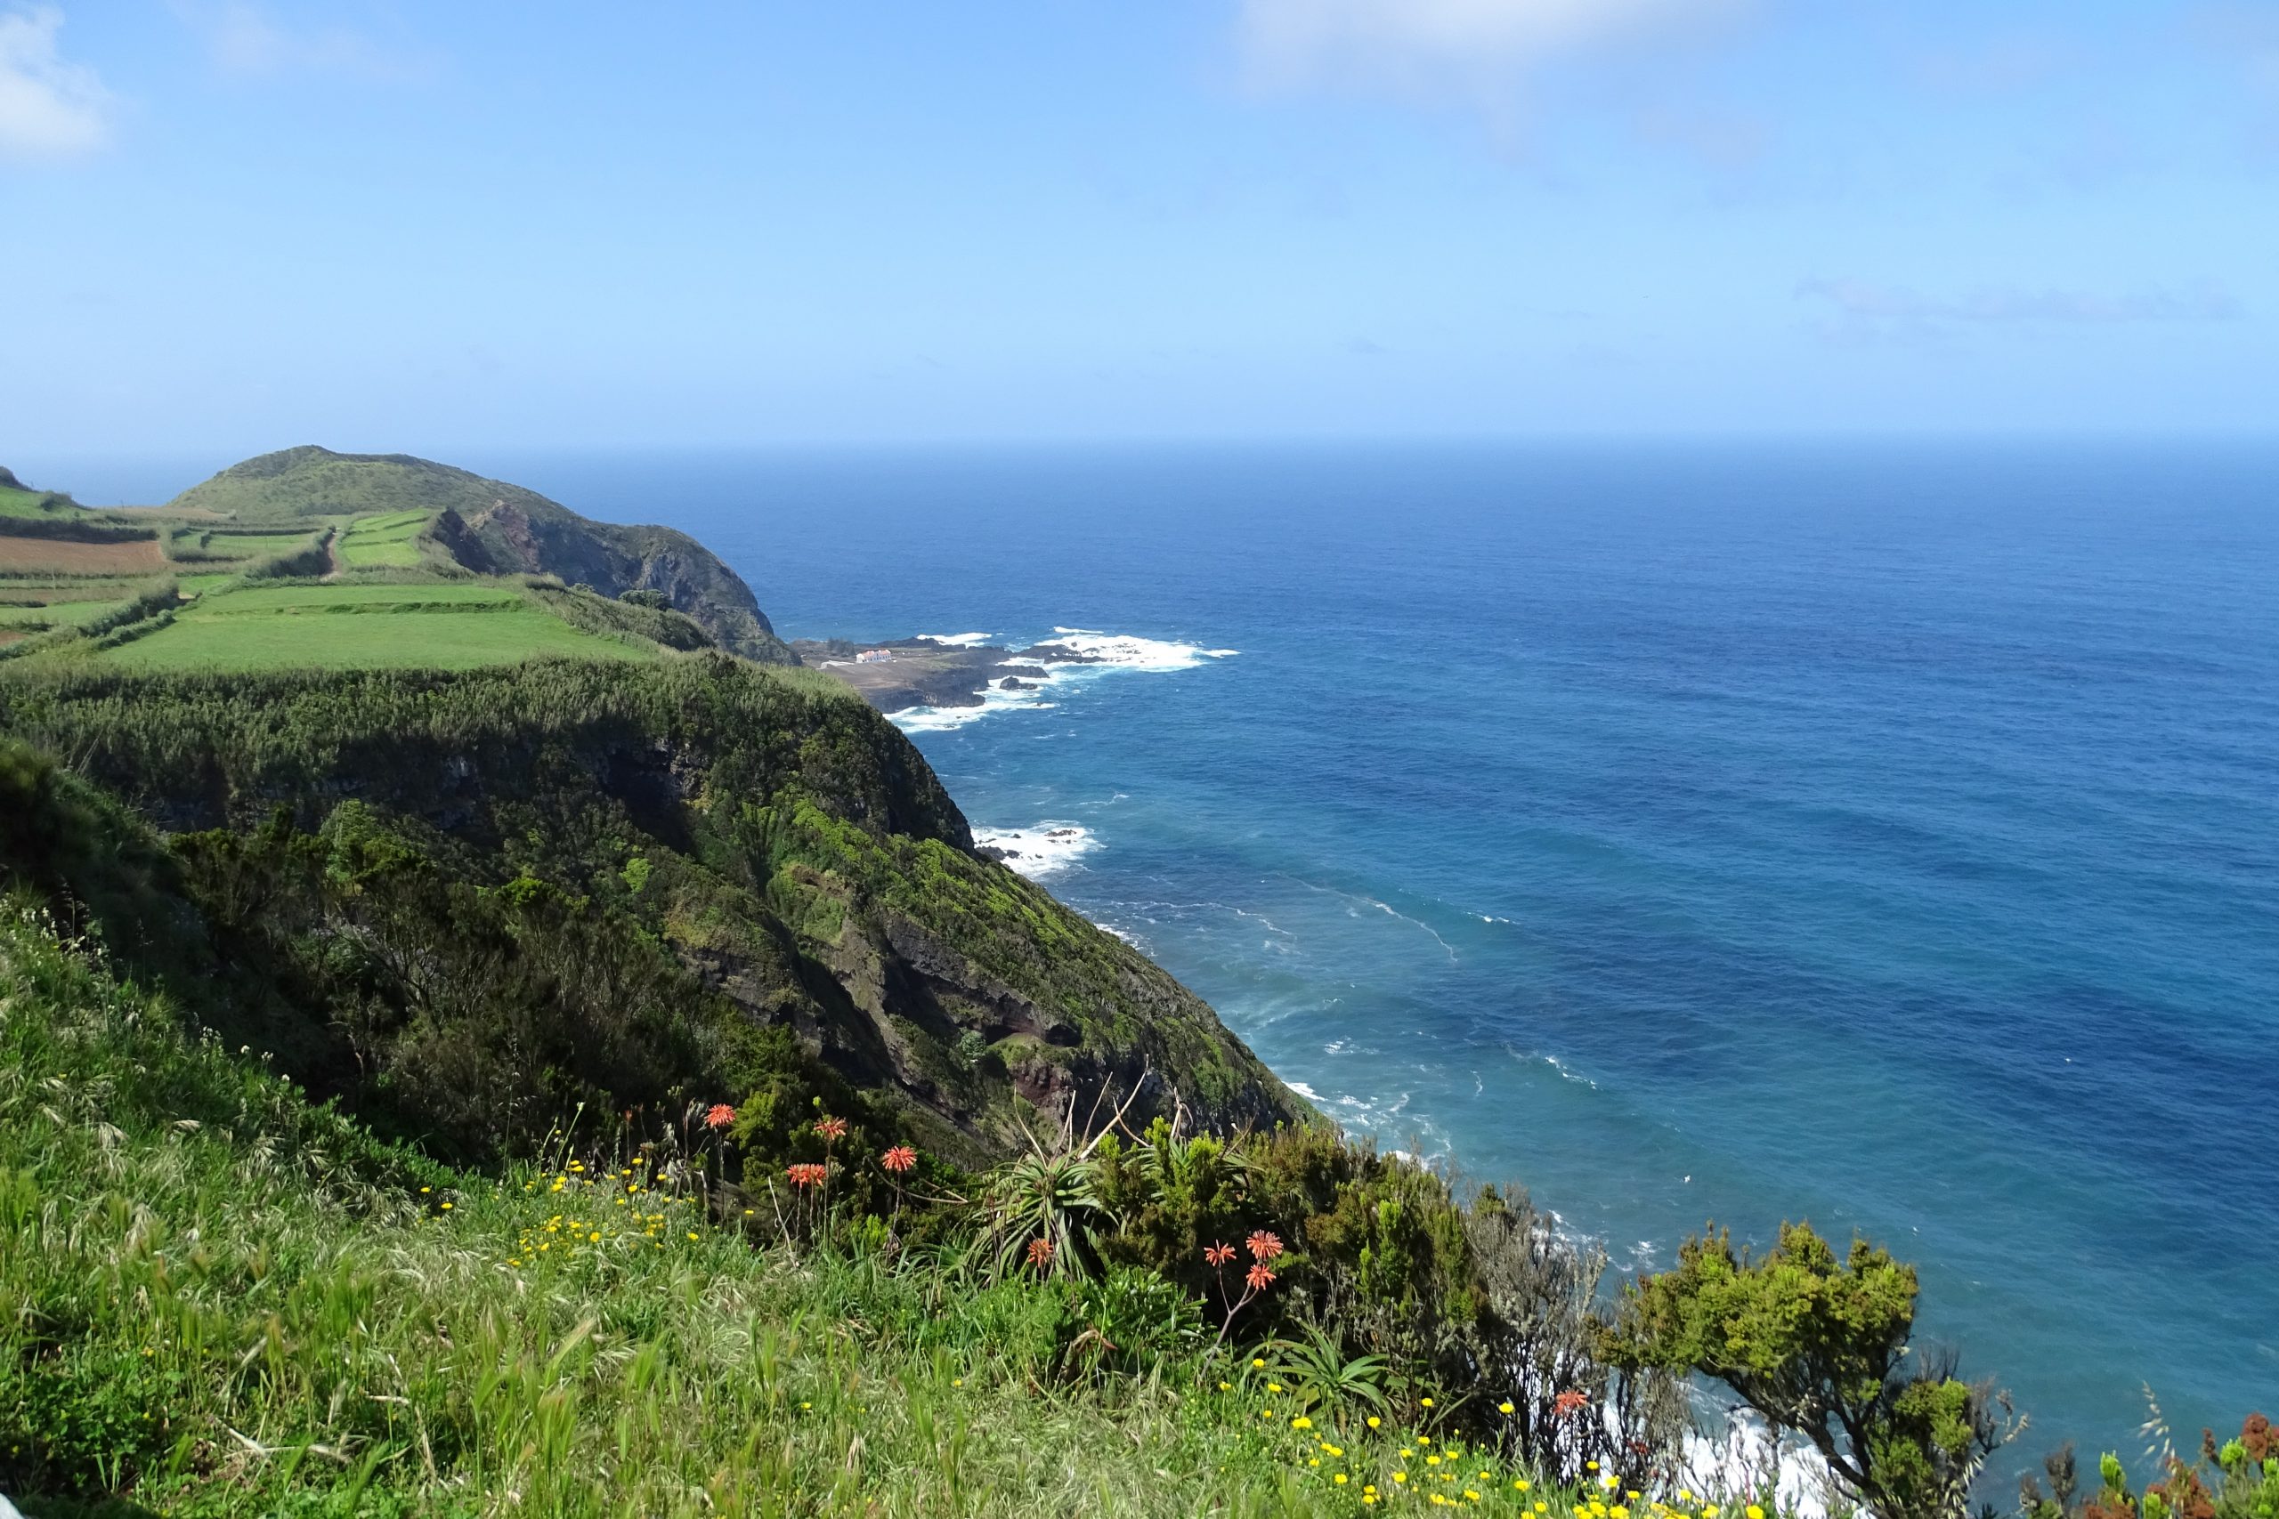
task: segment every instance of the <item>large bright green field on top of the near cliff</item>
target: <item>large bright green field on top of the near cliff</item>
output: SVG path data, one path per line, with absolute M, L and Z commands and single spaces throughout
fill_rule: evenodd
M 98 658 L 132 670 L 474 670 L 533 656 L 647 658 L 501 585 L 235 590 Z

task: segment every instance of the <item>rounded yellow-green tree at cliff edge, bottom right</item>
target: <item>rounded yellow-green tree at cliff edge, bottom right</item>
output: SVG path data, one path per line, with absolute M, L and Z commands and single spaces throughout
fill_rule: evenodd
M 1912 1357 L 1914 1266 L 1855 1239 L 1848 1259 L 1807 1223 L 1764 1257 L 1732 1234 L 1689 1239 L 1677 1266 L 1625 1289 L 1618 1364 L 1712 1376 L 1778 1430 L 1812 1442 L 1878 1519 L 1969 1512 L 1978 1469 L 2012 1432 L 2008 1398 Z

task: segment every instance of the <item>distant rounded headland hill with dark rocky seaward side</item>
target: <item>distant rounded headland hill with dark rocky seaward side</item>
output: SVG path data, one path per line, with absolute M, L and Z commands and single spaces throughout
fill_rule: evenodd
M 795 665 L 752 590 L 675 528 L 593 522 L 533 490 L 408 453 L 301 446 L 230 465 L 169 503 L 237 522 L 433 515 L 426 533 L 476 574 L 552 574 L 620 597 L 656 590 L 722 649 Z

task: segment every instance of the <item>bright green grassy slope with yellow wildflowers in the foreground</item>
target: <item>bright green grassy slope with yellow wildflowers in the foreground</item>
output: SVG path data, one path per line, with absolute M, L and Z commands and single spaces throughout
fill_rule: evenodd
M 34 1519 L 1573 1512 L 1201 1344 L 1071 1376 L 1057 1287 L 768 1248 L 622 1159 L 383 1148 L 11 906 L 0 1489 Z

